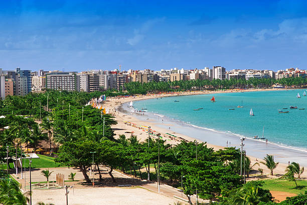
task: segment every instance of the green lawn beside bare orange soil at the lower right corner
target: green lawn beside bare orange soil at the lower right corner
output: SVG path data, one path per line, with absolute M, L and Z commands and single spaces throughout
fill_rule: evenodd
M 289 193 L 304 193 L 307 191 L 307 180 L 296 180 L 297 186 L 295 187 L 294 181 L 281 180 L 281 179 L 267 179 L 264 180 L 263 188 L 270 191 L 284 191 Z

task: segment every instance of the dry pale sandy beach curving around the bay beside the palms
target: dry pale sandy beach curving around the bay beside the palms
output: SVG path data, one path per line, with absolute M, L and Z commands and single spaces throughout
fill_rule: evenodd
M 179 95 L 194 95 L 194 94 L 213 94 L 213 93 L 221 93 L 221 92 L 246 92 L 246 91 L 268 91 L 268 90 L 278 90 L 275 88 L 272 89 L 246 89 L 246 90 L 225 90 L 225 91 L 191 91 L 191 92 L 174 92 L 174 93 L 161 93 L 161 94 L 147 94 L 147 95 L 138 95 L 138 96 L 131 96 L 131 97 L 108 97 L 107 101 L 104 103 L 105 108 L 109 108 L 110 114 L 112 114 L 117 121 L 117 125 L 112 126 L 114 129 L 114 133 L 116 134 L 115 138 L 118 138 L 119 135 L 125 135 L 127 138 L 130 137 L 131 134 L 136 135 L 137 139 L 141 142 L 144 141 L 148 135 L 146 133 L 147 126 L 150 126 L 151 130 L 154 133 L 160 133 L 166 143 L 169 144 L 178 144 L 182 140 L 187 141 L 194 141 L 195 138 L 192 138 L 188 134 L 184 135 L 178 132 L 180 126 L 174 124 L 173 122 L 164 121 L 163 123 L 161 120 L 158 122 L 156 119 L 152 118 L 144 118 L 141 120 L 143 116 L 142 113 L 129 115 L 129 113 L 125 112 L 124 109 L 121 109 L 121 105 L 136 100 L 144 100 L 149 98 L 159 98 L 159 97 L 168 97 L 168 96 L 179 96 Z M 135 116 L 138 115 L 138 116 Z M 159 116 L 157 116 L 159 118 Z M 166 134 L 169 133 L 169 134 Z M 171 134 L 171 135 L 170 135 Z M 176 135 L 173 137 L 172 135 Z M 238 138 L 239 140 L 239 138 Z M 199 141 L 199 140 L 198 140 Z M 224 146 L 218 146 L 213 144 L 208 144 L 208 147 L 212 147 L 214 150 L 223 149 Z M 225 144 L 226 146 L 226 144 Z M 231 146 L 235 146 L 237 148 L 240 147 L 239 143 L 231 144 Z M 263 153 L 262 153 L 263 154 Z M 266 153 L 272 154 L 272 153 Z M 294 155 L 294 154 L 293 154 Z M 257 155 L 248 155 L 251 159 L 251 163 L 260 162 L 260 156 Z M 292 161 L 291 158 L 284 159 L 283 161 Z M 285 173 L 287 163 L 279 163 L 277 168 L 274 170 L 274 175 L 269 175 L 269 170 L 263 165 L 260 166 L 255 165 L 254 169 L 257 170 L 258 168 L 263 169 L 263 173 L 265 177 L 274 178 L 279 177 L 281 174 Z M 254 171 L 251 173 L 250 179 L 259 175 L 259 172 Z M 302 174 L 302 178 L 307 178 L 307 172 Z

